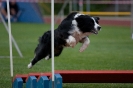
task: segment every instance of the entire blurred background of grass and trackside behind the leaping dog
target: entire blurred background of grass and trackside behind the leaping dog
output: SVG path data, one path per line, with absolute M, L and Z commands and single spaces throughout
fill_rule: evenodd
M 54 0 L 55 28 L 71 12 L 100 17 L 102 30 L 88 48 L 65 48 L 55 57 L 55 70 L 133 70 L 133 0 Z M 51 60 L 32 69 L 38 38 L 51 29 L 51 0 L 10 0 L 14 76 L 51 72 Z M 11 88 L 6 0 L 0 0 L 0 87 Z M 133 84 L 63 84 L 63 88 L 133 88 Z

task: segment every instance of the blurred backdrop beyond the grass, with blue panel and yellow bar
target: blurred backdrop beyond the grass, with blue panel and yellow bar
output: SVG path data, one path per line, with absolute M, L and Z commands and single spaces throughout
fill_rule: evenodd
M 6 18 L 5 1 L 6 0 L 1 0 L 1 13 L 4 18 Z M 17 18 L 13 21 L 50 23 L 50 0 L 10 1 L 16 4 L 16 6 L 12 5 Z M 101 16 L 101 24 L 130 25 L 131 3 L 131 0 L 55 0 L 55 23 L 60 23 L 60 21 L 72 11 L 80 11 L 91 16 Z M 121 21 L 121 19 L 126 19 L 124 20 L 125 23 Z M 114 20 L 121 22 L 114 23 Z

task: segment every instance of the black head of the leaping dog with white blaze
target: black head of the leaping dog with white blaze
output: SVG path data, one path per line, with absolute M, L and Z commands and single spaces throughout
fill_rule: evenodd
M 98 31 L 101 29 L 101 26 L 99 25 L 99 17 L 91 17 L 89 15 L 79 14 L 77 13 L 74 16 L 74 19 L 76 20 L 77 26 L 83 33 L 89 32 L 98 34 Z

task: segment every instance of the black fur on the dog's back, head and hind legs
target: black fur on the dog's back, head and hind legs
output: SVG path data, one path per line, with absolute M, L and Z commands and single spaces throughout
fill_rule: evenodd
M 72 23 L 73 20 L 77 22 L 77 28 L 79 28 L 79 32 L 84 33 L 94 33 L 97 34 L 98 30 L 100 30 L 100 26 L 98 30 L 94 28 L 94 20 L 88 16 L 79 13 L 73 12 L 69 14 L 58 26 L 57 29 L 54 30 L 54 55 L 59 56 L 65 46 L 70 46 L 66 41 L 69 36 L 73 35 L 75 31 L 75 24 Z M 76 16 L 77 15 L 77 16 Z M 96 23 L 98 24 L 98 17 L 94 17 Z M 77 36 L 77 35 L 76 35 Z M 80 36 L 80 35 L 78 35 Z M 86 36 L 85 36 L 86 37 Z M 83 38 L 85 38 L 83 37 Z M 82 39 L 79 39 L 79 41 Z M 76 41 L 76 42 L 79 42 Z M 35 49 L 35 57 L 28 65 L 28 68 L 31 68 L 35 63 L 37 63 L 42 58 L 49 59 L 51 58 L 51 31 L 45 32 L 42 37 L 39 39 L 39 44 Z

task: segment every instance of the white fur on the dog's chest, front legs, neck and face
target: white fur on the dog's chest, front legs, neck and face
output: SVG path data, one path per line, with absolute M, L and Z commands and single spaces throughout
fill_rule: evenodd
M 83 15 L 83 14 L 77 14 L 77 15 L 75 15 L 75 18 L 80 15 Z M 93 18 L 93 20 L 94 20 L 94 18 Z M 78 42 L 81 42 L 82 46 L 80 47 L 79 51 L 83 52 L 90 43 L 90 40 L 87 37 L 87 36 L 89 36 L 90 33 L 89 32 L 88 33 L 80 32 L 80 29 L 77 27 L 78 24 L 77 24 L 76 20 L 72 21 L 72 25 L 73 25 L 73 30 L 69 31 L 69 33 L 72 34 L 72 36 L 69 36 L 68 39 L 66 40 L 66 42 L 70 47 L 74 47 Z M 98 24 L 96 22 L 95 22 L 95 26 L 96 27 L 98 26 Z

